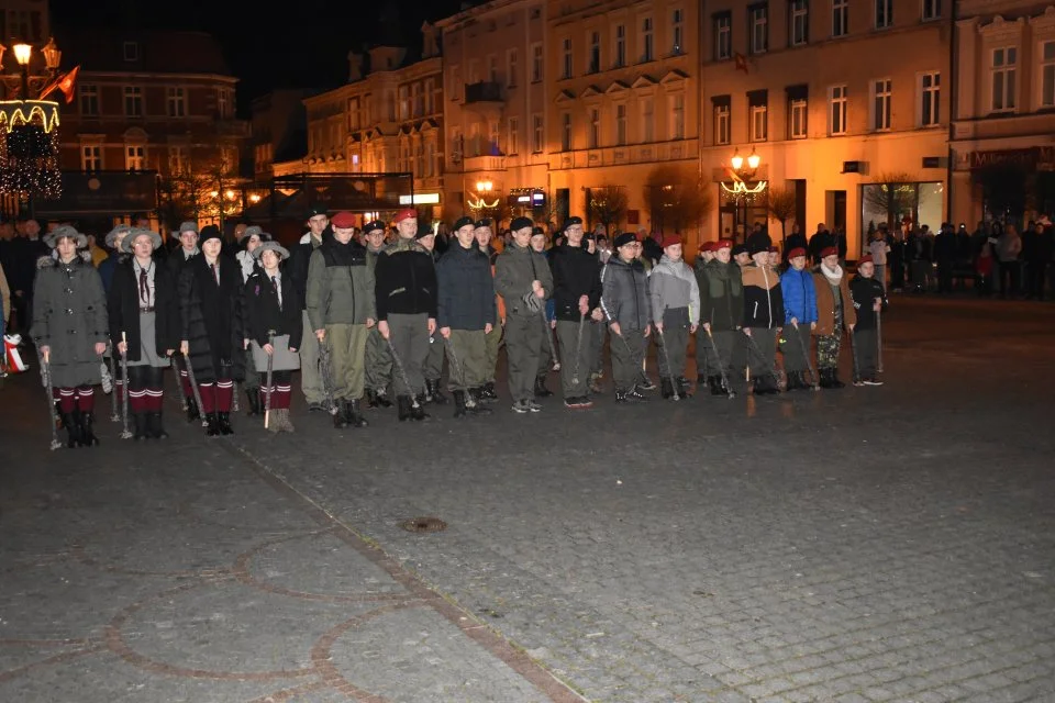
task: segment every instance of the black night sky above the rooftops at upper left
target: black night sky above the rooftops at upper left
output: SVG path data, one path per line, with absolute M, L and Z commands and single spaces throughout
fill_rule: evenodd
M 332 88 L 347 80 L 347 53 L 371 44 L 419 42 L 425 20 L 454 14 L 460 0 L 398 0 L 395 3 L 295 0 L 277 14 L 268 4 L 245 0 L 182 0 L 151 2 L 122 0 L 108 7 L 126 8 L 123 18 L 101 14 L 99 4 L 84 0 L 52 0 L 52 22 L 91 26 L 131 21 L 145 29 L 197 30 L 220 40 L 232 71 L 241 79 L 240 111 L 274 88 Z M 388 5 L 381 9 L 382 5 Z M 273 5 L 281 8 L 282 5 Z M 381 14 L 385 13 L 382 18 Z M 174 47 L 174 51 L 178 51 Z M 69 60 L 76 60 L 68 57 Z M 67 63 L 67 57 L 64 57 Z

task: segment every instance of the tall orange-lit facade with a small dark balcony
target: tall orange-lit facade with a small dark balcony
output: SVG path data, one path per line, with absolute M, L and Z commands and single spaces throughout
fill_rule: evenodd
M 441 20 L 448 216 L 549 210 L 546 4 L 493 0 Z

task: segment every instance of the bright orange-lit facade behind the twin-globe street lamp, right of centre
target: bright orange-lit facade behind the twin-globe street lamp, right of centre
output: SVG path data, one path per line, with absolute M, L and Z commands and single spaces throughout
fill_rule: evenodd
M 941 225 L 952 4 L 707 3 L 700 160 L 718 205 L 707 238 L 742 241 L 745 227 L 769 221 L 764 191 L 729 192 L 737 177 L 791 191 L 803 233 L 819 223 L 844 230 L 851 258 L 882 222 Z M 731 172 L 737 153 L 758 156 L 758 169 Z M 898 196 L 884 183 L 898 183 Z M 769 231 L 779 239 L 779 223 Z

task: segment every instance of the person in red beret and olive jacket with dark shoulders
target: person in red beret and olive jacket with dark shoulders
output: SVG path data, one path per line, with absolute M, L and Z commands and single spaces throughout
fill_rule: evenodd
M 366 427 L 359 399 L 365 386 L 367 332 L 377 321 L 374 271 L 367 266 L 366 249 L 355 241 L 355 216 L 338 212 L 332 224 L 333 236 L 311 254 L 304 308 L 311 336 L 330 348 L 333 378 L 329 381 L 337 404 L 333 426 Z

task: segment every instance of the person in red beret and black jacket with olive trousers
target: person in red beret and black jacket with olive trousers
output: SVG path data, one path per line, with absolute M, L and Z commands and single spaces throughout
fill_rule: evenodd
M 422 408 L 429 337 L 436 331 L 436 270 L 432 255 L 418 243 L 418 213 L 396 214 L 398 238 L 377 258 L 375 267 L 377 319 L 381 336 L 391 344 L 396 369 L 396 401 L 400 421 L 429 419 Z

